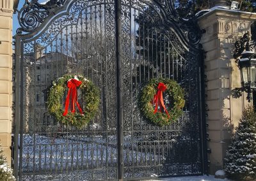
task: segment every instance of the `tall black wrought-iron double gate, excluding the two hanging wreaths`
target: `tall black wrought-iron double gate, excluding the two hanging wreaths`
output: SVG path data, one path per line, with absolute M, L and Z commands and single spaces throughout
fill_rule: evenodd
M 193 18 L 179 18 L 168 0 L 26 0 L 19 23 L 16 177 L 131 180 L 205 172 L 201 33 Z M 47 89 L 67 73 L 100 89 L 99 112 L 82 130 L 47 113 Z M 138 107 L 143 85 L 159 77 L 186 91 L 182 117 L 164 127 L 150 124 Z

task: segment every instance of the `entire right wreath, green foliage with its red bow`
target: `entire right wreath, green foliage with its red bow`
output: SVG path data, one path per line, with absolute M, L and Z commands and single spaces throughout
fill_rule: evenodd
M 184 90 L 174 80 L 153 78 L 141 93 L 141 112 L 157 126 L 177 120 L 185 105 Z

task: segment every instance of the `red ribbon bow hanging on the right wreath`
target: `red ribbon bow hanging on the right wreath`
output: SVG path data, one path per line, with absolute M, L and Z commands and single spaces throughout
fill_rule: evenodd
M 159 82 L 157 89 L 158 89 L 158 91 L 154 95 L 154 106 L 155 106 L 154 113 L 158 112 L 158 105 L 159 105 L 159 107 L 160 107 L 159 112 L 161 112 L 161 109 L 163 108 L 164 112 L 166 112 L 166 114 L 170 118 L 170 115 L 169 115 L 166 107 L 164 106 L 164 98 L 163 98 L 163 92 L 166 91 L 167 87 L 163 82 Z

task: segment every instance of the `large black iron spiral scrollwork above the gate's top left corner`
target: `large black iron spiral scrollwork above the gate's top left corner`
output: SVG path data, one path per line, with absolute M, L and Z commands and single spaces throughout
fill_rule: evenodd
M 50 0 L 45 4 L 38 3 L 38 0 L 25 0 L 25 3 L 19 11 L 20 28 L 17 34 L 22 32 L 30 33 L 44 22 L 44 20 L 53 14 L 55 8 L 63 6 L 66 0 Z

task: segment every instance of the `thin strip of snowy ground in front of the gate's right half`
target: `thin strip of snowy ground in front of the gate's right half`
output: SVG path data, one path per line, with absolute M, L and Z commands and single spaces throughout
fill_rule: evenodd
M 161 178 L 156 181 L 159 181 L 159 180 L 164 180 L 164 181 L 232 181 L 232 180 L 228 180 L 227 178 L 225 178 L 225 179 L 214 178 L 213 175 Z M 143 180 L 143 181 L 146 181 L 146 180 Z M 147 181 L 155 181 L 155 180 L 147 180 Z

